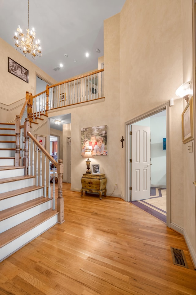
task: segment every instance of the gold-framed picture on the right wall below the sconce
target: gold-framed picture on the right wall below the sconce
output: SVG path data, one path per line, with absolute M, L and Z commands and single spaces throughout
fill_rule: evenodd
M 193 140 L 193 97 L 190 98 L 182 113 L 183 144 Z

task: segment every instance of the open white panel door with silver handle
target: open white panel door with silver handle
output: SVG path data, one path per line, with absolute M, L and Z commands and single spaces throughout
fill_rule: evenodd
M 131 201 L 137 201 L 150 198 L 150 127 L 131 128 Z

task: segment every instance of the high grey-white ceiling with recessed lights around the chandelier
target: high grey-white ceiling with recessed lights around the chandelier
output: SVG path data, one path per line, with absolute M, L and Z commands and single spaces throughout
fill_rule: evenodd
M 40 39 L 42 57 L 26 58 L 58 82 L 96 69 L 98 57 L 104 55 L 104 19 L 119 13 L 124 3 L 125 0 L 29 0 L 29 29 L 34 27 L 35 40 Z M 1 0 L 0 37 L 13 47 L 12 37 L 18 25 L 26 33 L 28 0 Z M 55 71 L 60 63 L 63 67 Z

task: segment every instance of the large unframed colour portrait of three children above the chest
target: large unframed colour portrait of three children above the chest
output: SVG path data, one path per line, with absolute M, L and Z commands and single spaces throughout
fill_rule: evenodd
M 107 125 L 81 128 L 81 155 L 90 149 L 93 156 L 107 156 Z

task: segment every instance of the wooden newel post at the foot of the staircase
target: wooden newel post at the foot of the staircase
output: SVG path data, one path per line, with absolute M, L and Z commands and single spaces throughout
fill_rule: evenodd
M 58 174 L 58 198 L 57 198 L 57 211 L 58 211 L 58 223 L 63 223 L 64 220 L 64 199 L 62 197 L 62 174 L 63 174 L 63 163 L 62 160 L 58 160 L 57 166 Z

